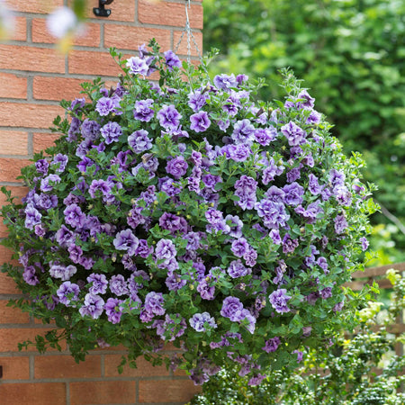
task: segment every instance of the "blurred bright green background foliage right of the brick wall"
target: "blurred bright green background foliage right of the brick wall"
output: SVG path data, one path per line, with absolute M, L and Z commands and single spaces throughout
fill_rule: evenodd
M 405 2 L 204 0 L 204 49 L 220 49 L 211 75 L 265 77 L 281 94 L 292 67 L 334 125 L 347 154 L 360 151 L 377 184 L 370 265 L 405 261 Z

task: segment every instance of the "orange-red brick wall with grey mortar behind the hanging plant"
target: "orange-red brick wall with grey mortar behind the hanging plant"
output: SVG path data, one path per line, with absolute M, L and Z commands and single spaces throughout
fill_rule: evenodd
M 63 0 L 8 0 L 16 12 L 13 38 L 0 43 L 0 185 L 23 196 L 16 179 L 34 152 L 53 141 L 49 126 L 62 112 L 58 101 L 78 95 L 79 84 L 94 76 L 112 81 L 117 72 L 108 54 L 111 46 L 130 55 L 139 44 L 155 37 L 162 49 L 174 49 L 184 28 L 184 0 L 115 0 L 108 19 L 95 18 L 98 0 L 87 0 L 88 24 L 67 56 L 60 55 L 45 29 L 46 15 Z M 194 36 L 202 49 L 202 3 L 192 1 L 189 11 Z M 186 40 L 179 48 L 186 53 Z M 3 194 L 2 194 L 3 195 Z M 0 196 L 0 204 L 4 203 Z M 0 238 L 5 228 L 0 225 Z M 0 264 L 11 254 L 0 246 Z M 18 352 L 17 342 L 34 338 L 49 327 L 5 306 L 19 297 L 14 283 L 0 273 L 0 379 L 1 405 L 180 404 L 196 388 L 184 374 L 167 372 L 139 360 L 138 369 L 119 375 L 116 365 L 124 352 L 96 350 L 76 365 L 64 347 L 49 351 Z

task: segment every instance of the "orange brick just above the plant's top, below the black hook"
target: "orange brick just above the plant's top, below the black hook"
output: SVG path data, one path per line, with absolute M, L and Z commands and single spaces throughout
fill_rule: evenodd
M 148 45 L 155 38 L 163 50 L 171 48 L 170 31 L 157 28 L 130 27 L 128 25 L 105 24 L 104 46 L 118 49 L 138 49 L 139 45 Z

